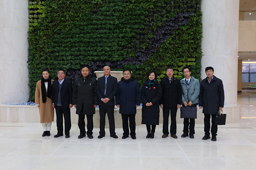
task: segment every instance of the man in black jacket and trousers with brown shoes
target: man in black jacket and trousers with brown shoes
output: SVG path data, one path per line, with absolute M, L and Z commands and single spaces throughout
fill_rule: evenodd
M 162 138 L 166 138 L 169 135 L 168 131 L 168 120 L 169 114 L 171 114 L 171 126 L 170 134 L 171 137 L 177 138 L 176 131 L 176 114 L 177 109 L 181 107 L 182 101 L 182 87 L 180 80 L 174 78 L 174 69 L 167 67 L 165 74 L 167 77 L 160 81 L 162 87 L 162 97 L 160 99 L 160 107 L 163 108 L 163 135 Z

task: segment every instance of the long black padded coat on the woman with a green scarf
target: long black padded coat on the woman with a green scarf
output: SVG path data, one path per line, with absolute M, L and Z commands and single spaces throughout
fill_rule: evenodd
M 156 81 L 151 87 L 148 80 L 142 85 L 142 124 L 159 125 L 159 100 L 162 96 L 161 85 Z M 146 106 L 146 103 L 152 103 Z

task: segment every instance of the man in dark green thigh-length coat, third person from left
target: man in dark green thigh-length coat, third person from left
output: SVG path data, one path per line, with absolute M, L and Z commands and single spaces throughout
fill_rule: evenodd
M 78 114 L 79 139 L 85 137 L 85 115 L 87 118 L 87 136 L 92 139 L 93 115 L 98 105 L 96 92 L 97 80 L 90 77 L 90 70 L 86 66 L 81 67 L 81 75 L 75 79 L 73 88 L 73 105 Z

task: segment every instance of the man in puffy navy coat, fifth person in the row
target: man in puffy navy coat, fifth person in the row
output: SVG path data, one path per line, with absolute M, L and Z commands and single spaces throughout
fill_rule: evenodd
M 119 108 L 119 113 L 122 115 L 123 121 L 123 137 L 129 137 L 128 118 L 130 125 L 130 136 L 136 139 L 135 133 L 135 114 L 136 107 L 140 105 L 141 91 L 138 81 L 131 77 L 130 70 L 123 71 L 123 78 L 118 83 L 116 95 L 116 106 Z

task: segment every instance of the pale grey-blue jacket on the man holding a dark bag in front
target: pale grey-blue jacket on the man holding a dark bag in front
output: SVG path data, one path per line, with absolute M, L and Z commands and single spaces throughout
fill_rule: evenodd
M 200 92 L 200 84 L 199 80 L 195 79 L 191 76 L 190 84 L 188 85 L 188 99 L 187 99 L 187 83 L 186 78 L 181 80 L 181 87 L 182 87 L 182 103 L 186 101 L 192 102 L 192 104 L 198 103 L 199 92 Z

